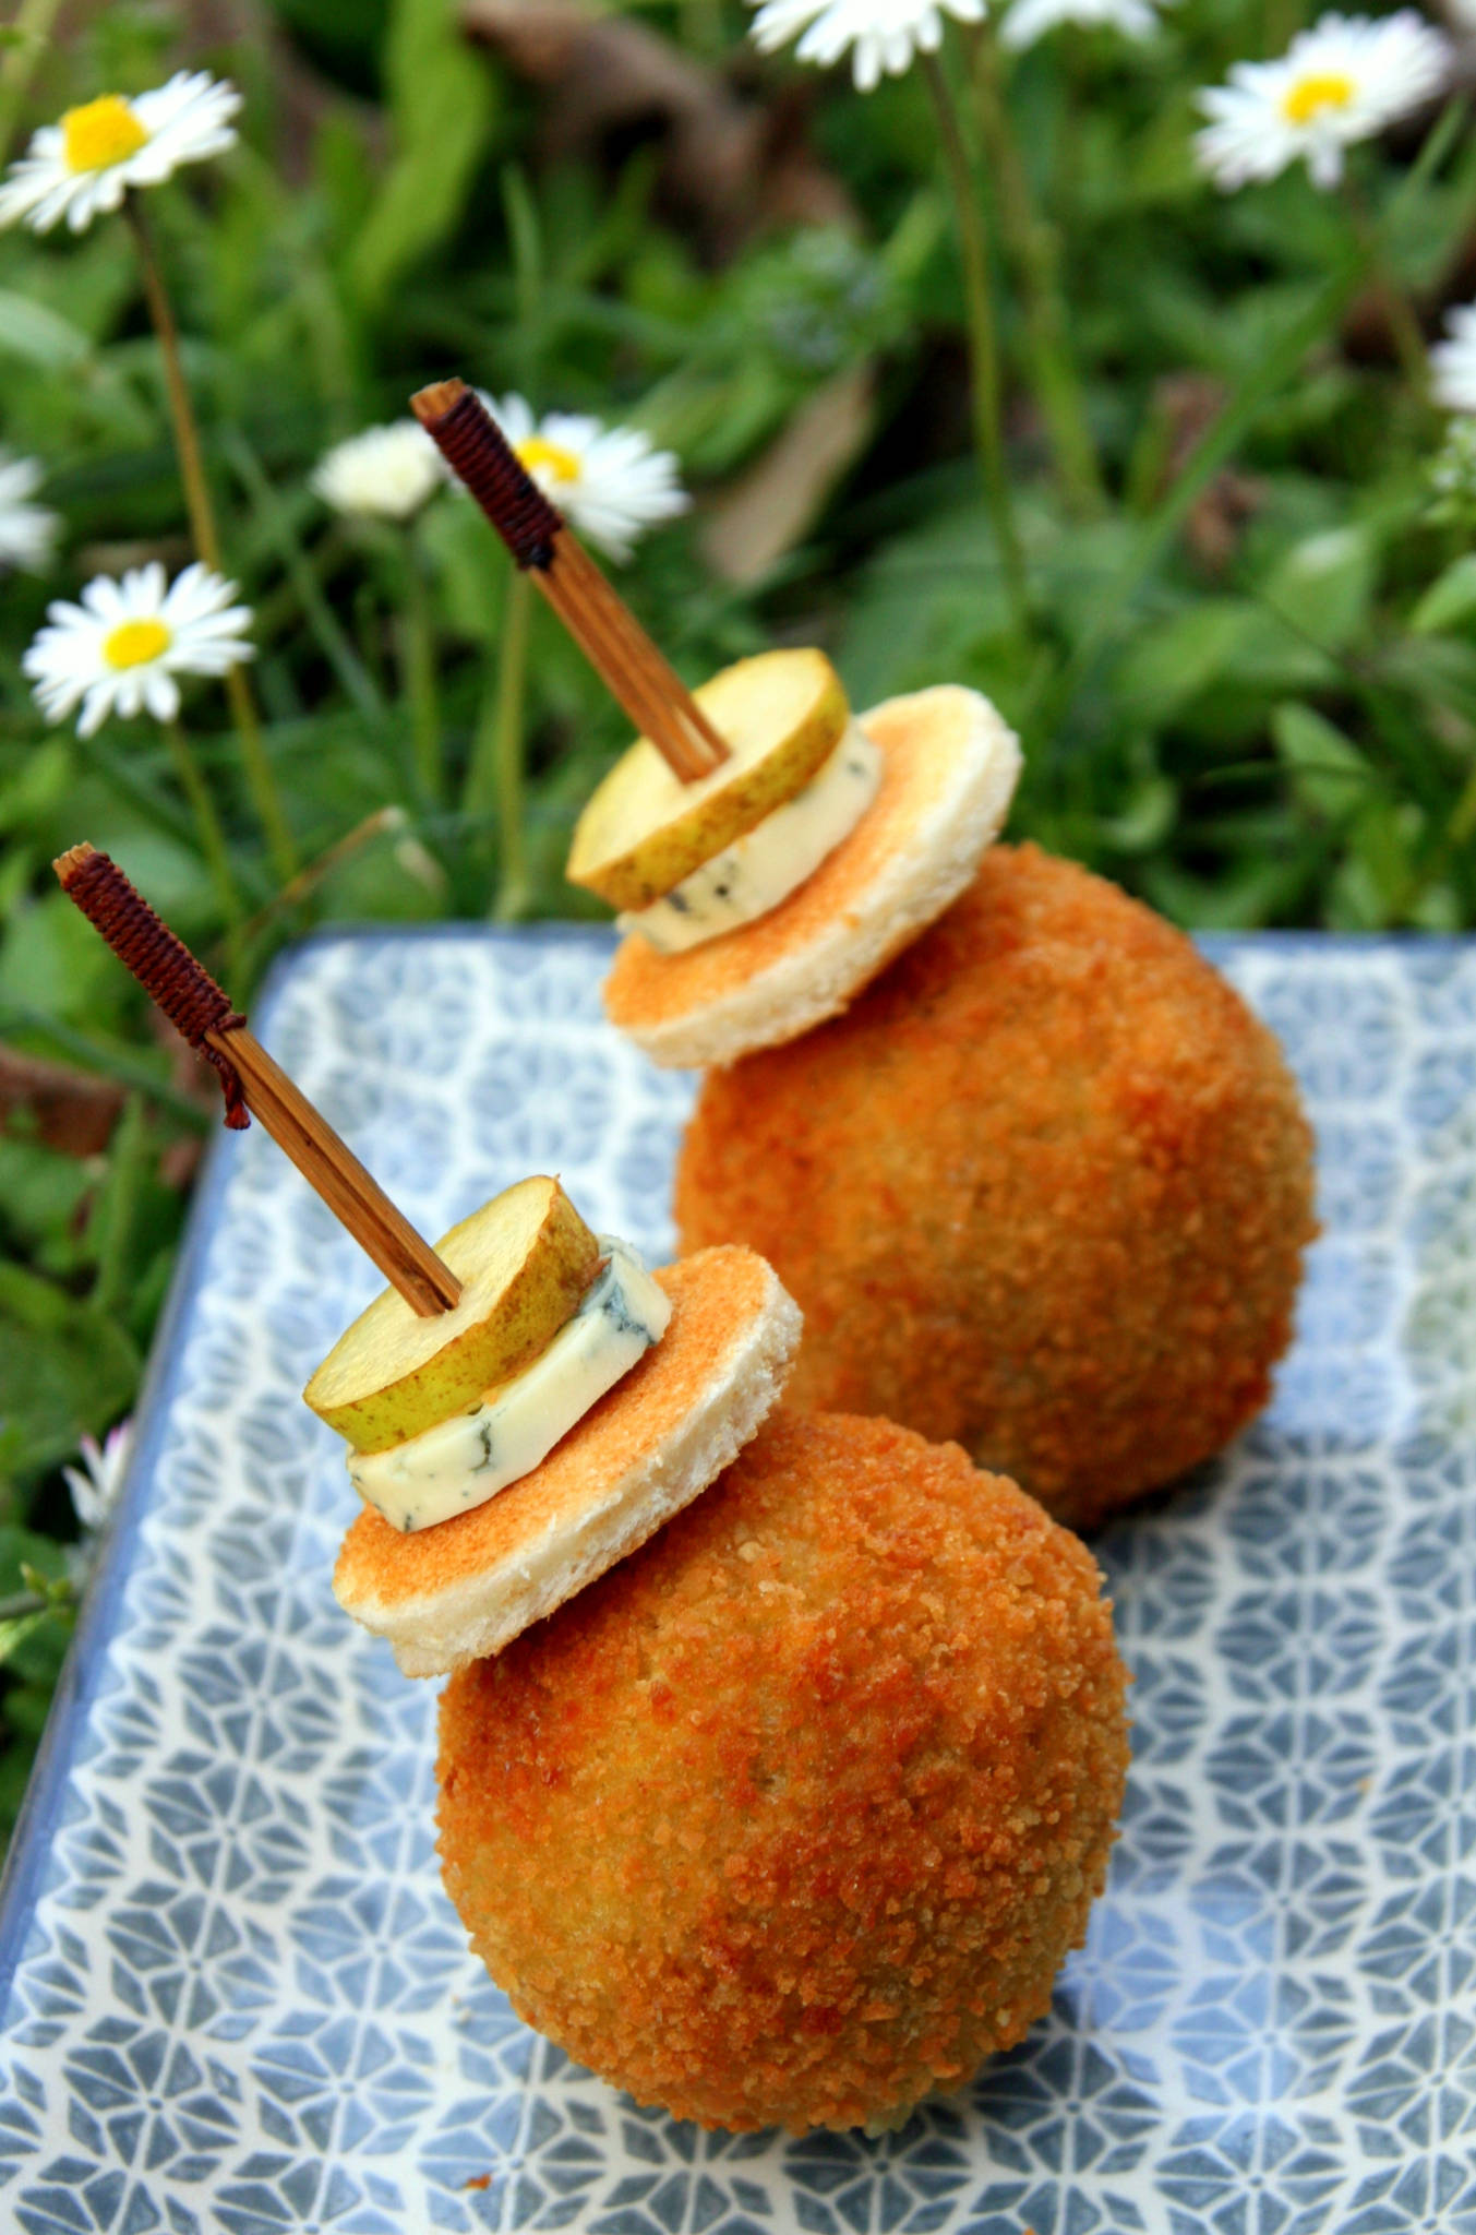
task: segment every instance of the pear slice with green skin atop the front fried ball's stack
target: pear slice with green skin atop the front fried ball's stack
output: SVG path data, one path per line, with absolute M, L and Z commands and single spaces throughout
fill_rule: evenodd
M 523 1372 L 574 1316 L 601 1245 L 558 1180 L 518 1180 L 435 1243 L 462 1283 L 418 1319 L 386 1287 L 337 1339 L 304 1397 L 355 1451 L 389 1451 Z

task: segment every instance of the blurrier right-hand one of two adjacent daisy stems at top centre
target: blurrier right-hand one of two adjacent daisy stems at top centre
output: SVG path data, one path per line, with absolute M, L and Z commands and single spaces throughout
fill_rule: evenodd
M 1003 56 L 991 18 L 974 40 L 974 89 L 989 168 L 1000 190 L 1000 232 L 1020 273 L 1025 329 L 1036 375 L 1036 396 L 1061 467 L 1067 501 L 1079 512 L 1101 512 L 1103 481 L 1085 400 L 1067 337 L 1061 288 L 1061 237 L 1041 215 L 1029 170 L 1005 101 Z

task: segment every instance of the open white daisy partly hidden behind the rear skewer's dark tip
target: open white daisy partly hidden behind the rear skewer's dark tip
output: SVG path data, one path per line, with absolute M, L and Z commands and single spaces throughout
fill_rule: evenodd
M 605 427 L 581 411 L 534 418 L 520 396 L 500 402 L 482 396 L 482 402 L 569 527 L 610 559 L 630 559 L 648 527 L 688 510 L 677 458 L 670 449 L 652 449 L 639 429 Z

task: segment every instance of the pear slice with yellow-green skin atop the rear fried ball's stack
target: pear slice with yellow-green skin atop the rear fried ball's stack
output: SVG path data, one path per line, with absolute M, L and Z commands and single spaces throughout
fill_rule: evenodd
M 759 653 L 692 693 L 728 760 L 694 784 L 636 738 L 578 818 L 567 876 L 612 907 L 648 907 L 793 800 L 840 744 L 851 708 L 824 653 Z

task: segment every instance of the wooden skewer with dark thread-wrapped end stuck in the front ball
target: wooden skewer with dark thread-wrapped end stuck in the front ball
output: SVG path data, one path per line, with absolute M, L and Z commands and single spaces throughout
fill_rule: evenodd
M 246 1017 L 232 1010 L 205 966 L 161 923 L 116 860 L 83 843 L 58 854 L 51 867 L 67 898 L 127 963 L 170 1024 L 221 1073 L 226 1124 L 243 1126 L 250 1109 L 409 1307 L 420 1319 L 449 1312 L 462 1292 L 451 1267 L 246 1030 Z

